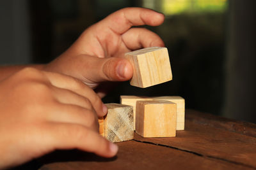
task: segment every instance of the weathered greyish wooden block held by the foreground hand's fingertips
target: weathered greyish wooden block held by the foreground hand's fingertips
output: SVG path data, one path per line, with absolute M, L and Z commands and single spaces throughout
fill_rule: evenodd
M 133 139 L 132 106 L 108 103 L 108 114 L 104 117 L 104 137 L 111 142 Z

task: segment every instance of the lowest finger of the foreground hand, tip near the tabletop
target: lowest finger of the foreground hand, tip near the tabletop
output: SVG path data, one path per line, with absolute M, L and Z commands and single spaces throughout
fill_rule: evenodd
M 49 125 L 49 141 L 56 149 L 79 149 L 93 152 L 102 157 L 113 157 L 118 147 L 87 127 L 77 124 L 51 124 Z

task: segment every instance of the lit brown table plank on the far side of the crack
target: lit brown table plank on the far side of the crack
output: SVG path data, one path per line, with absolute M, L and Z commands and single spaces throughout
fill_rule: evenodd
M 198 113 L 190 110 L 186 112 L 188 117 Z M 209 124 L 196 124 L 186 118 L 186 131 L 177 131 L 175 138 L 142 138 L 134 134 L 134 139 L 256 168 L 256 138 Z

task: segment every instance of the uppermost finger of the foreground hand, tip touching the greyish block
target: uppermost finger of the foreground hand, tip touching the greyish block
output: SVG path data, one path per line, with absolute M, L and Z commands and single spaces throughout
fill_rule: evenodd
M 81 70 L 83 69 L 84 68 L 81 68 Z M 64 74 L 52 73 L 47 71 L 45 71 L 44 73 L 49 81 L 51 81 L 52 85 L 61 89 L 71 90 L 72 92 L 75 92 L 80 96 L 88 98 L 99 117 L 103 117 L 108 112 L 108 109 L 106 108 L 105 104 L 102 103 L 100 97 L 97 96 L 97 94 L 95 94 L 95 92 L 90 87 L 86 86 L 82 81 L 77 80 L 76 78 L 73 78 L 71 76 L 66 76 Z

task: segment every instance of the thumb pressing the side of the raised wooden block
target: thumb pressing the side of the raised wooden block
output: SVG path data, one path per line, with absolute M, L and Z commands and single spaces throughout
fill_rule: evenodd
M 93 83 L 102 81 L 126 81 L 132 78 L 133 69 L 129 60 L 120 57 L 99 58 L 83 56 L 83 77 Z

